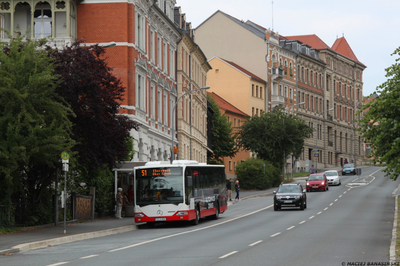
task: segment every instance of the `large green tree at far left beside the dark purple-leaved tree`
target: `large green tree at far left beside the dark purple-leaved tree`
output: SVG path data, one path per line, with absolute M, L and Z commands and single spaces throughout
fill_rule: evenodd
M 46 39 L 17 35 L 0 52 L 0 201 L 40 202 L 54 182 L 62 151 L 70 151 L 72 114 L 54 91 Z

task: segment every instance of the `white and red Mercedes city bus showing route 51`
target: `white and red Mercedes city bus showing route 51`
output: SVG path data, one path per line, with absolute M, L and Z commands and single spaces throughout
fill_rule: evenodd
M 226 201 L 225 167 L 192 160 L 148 162 L 134 167 L 135 222 L 218 219 Z

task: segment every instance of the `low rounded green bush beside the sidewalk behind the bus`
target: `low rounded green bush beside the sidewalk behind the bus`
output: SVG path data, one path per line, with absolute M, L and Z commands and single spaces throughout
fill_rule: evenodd
M 280 169 L 258 158 L 249 158 L 241 162 L 236 166 L 235 173 L 240 181 L 240 188 L 244 189 L 263 190 L 276 187 L 281 182 Z

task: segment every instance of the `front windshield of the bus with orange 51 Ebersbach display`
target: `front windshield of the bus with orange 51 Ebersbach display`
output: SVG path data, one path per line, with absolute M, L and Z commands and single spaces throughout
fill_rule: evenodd
M 183 203 L 182 167 L 136 169 L 136 205 Z

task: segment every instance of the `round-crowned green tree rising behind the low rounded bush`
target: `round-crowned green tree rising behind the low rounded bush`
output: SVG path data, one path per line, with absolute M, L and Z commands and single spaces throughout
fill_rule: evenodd
M 282 168 L 283 152 L 300 157 L 304 140 L 312 131 L 297 116 L 274 109 L 246 121 L 240 126 L 237 139 L 239 145 L 256 153 L 258 158 Z

